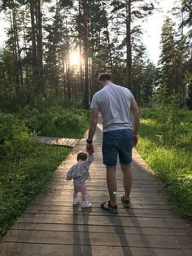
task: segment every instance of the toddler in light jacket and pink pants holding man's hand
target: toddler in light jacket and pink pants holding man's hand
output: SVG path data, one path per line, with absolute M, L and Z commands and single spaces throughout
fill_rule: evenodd
M 73 205 L 78 204 L 78 192 L 82 194 L 82 208 L 90 208 L 91 203 L 87 200 L 86 181 L 90 180 L 89 166 L 94 159 L 93 154 L 87 155 L 85 152 L 79 152 L 77 155 L 77 163 L 73 165 L 67 173 L 67 180 L 73 179 L 74 193 Z

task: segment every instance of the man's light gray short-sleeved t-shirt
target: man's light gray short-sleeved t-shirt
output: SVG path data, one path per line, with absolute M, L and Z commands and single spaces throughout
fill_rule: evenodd
M 132 92 L 113 83 L 96 92 L 90 108 L 98 108 L 103 117 L 103 132 L 119 129 L 133 129 L 130 111 Z

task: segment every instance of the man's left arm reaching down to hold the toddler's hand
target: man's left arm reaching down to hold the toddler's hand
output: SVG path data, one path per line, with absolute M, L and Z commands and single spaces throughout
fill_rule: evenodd
M 94 133 L 96 130 L 98 124 L 98 108 L 92 108 L 91 109 L 91 121 L 89 126 L 89 135 L 88 135 L 88 141 L 92 142 L 94 138 Z M 87 152 L 92 154 L 94 152 L 94 148 L 92 143 L 87 143 Z

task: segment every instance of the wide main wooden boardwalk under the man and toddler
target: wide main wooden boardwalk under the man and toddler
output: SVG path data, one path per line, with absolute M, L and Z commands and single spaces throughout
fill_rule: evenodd
M 102 131 L 94 139 L 94 163 L 88 183 L 91 210 L 72 207 L 72 182 L 66 171 L 76 162 L 76 152 L 85 150 L 81 139 L 54 179 L 24 211 L 0 244 L 1 256 L 184 256 L 192 255 L 190 225 L 172 210 L 161 183 L 145 161 L 133 152 L 132 207 L 120 204 L 122 174 L 117 170 L 119 214 L 103 212 L 108 199 L 102 163 Z

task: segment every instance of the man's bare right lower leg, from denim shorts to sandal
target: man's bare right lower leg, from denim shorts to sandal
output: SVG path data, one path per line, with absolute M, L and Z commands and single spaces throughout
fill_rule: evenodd
M 133 181 L 131 166 L 121 164 L 120 167 L 124 174 L 124 199 L 129 200 Z

